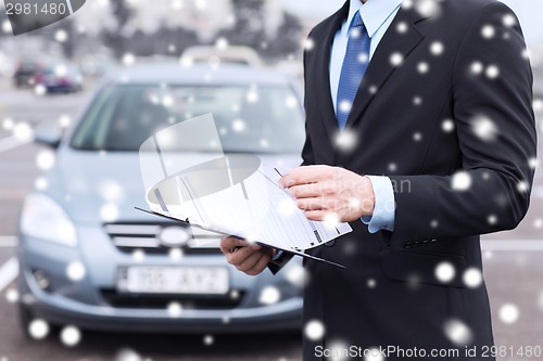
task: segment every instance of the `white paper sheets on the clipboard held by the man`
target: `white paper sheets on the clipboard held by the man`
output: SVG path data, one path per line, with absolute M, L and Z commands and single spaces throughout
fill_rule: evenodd
M 280 169 L 258 167 L 240 180 L 230 173 L 228 164 L 218 168 L 199 169 L 198 177 L 194 172 L 169 177 L 148 193 L 149 206 L 155 212 L 192 225 L 293 252 L 320 246 L 352 231 L 349 223 L 331 224 L 305 218 L 295 201 L 279 185 L 283 173 Z M 202 188 L 210 179 L 220 177 L 230 186 L 213 192 L 209 186 Z

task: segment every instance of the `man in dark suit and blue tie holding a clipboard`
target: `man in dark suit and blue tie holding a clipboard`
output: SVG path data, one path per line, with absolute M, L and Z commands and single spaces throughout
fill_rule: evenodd
M 348 270 L 305 262 L 304 360 L 492 360 L 479 235 L 521 221 L 536 156 L 517 17 L 494 0 L 351 0 L 308 44 L 304 164 L 281 183 L 353 232 L 310 250 Z M 249 274 L 289 259 L 222 249 Z

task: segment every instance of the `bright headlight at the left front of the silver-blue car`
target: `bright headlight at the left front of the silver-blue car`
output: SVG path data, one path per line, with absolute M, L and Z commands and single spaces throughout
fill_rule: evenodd
M 66 211 L 45 194 L 34 193 L 25 198 L 21 232 L 67 246 L 77 244 L 75 225 Z

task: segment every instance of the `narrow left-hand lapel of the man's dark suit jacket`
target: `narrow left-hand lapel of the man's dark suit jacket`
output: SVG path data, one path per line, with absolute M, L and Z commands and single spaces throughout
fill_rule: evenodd
M 330 90 L 330 53 L 333 43 L 333 38 L 336 33 L 341 28 L 343 21 L 349 15 L 350 2 L 345 1 L 343 8 L 341 8 L 336 14 L 330 17 L 330 22 L 324 30 L 324 37 L 321 39 L 314 39 L 318 41 L 317 47 L 317 69 L 319 72 L 319 77 L 323 79 L 321 87 L 318 87 L 316 91 L 319 92 L 317 99 L 320 100 L 320 113 L 321 119 L 325 124 L 325 128 L 330 138 L 330 142 L 334 144 L 334 134 L 338 133 L 338 120 L 336 117 L 336 112 L 333 111 L 333 103 Z

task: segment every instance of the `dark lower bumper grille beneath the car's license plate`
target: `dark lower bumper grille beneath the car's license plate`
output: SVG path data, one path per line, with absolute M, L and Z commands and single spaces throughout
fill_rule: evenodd
M 244 296 L 244 292 L 241 291 L 226 296 L 130 295 L 115 289 L 100 289 L 100 292 L 105 302 L 112 307 L 146 309 L 165 309 L 169 302 L 177 301 L 185 310 L 229 310 L 238 307 Z

